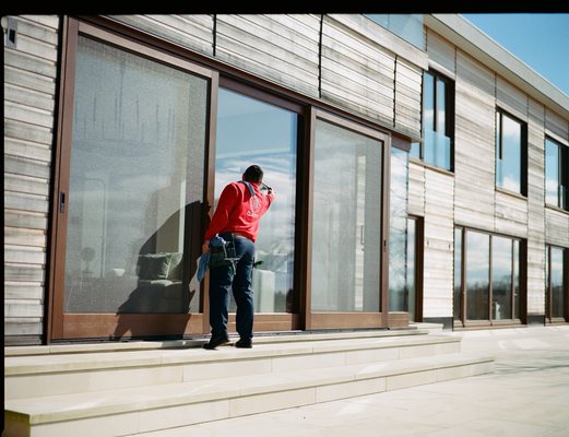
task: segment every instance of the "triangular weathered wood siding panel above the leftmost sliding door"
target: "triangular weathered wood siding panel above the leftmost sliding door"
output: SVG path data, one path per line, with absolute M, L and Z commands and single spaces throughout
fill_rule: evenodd
M 213 55 L 213 15 L 109 15 L 181 47 Z

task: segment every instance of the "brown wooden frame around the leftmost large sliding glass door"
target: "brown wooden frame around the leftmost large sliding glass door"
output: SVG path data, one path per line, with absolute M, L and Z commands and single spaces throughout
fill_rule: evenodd
M 62 56 L 61 56 L 61 74 L 60 74 L 60 95 L 57 115 L 57 145 L 54 156 L 54 188 L 51 199 L 51 222 L 49 229 L 50 250 L 48 256 L 48 273 L 47 273 L 47 305 L 46 305 L 46 324 L 45 336 L 46 343 L 59 340 L 84 339 L 93 332 L 93 327 L 104 333 L 111 331 L 116 326 L 118 315 L 116 314 L 97 314 L 93 316 L 91 321 L 85 322 L 86 315 L 83 314 L 66 314 L 63 310 L 63 284 L 64 284 L 64 247 L 67 240 L 67 210 L 63 208 L 63 200 L 69 192 L 70 178 L 70 153 L 72 142 L 72 119 L 74 110 L 74 76 L 76 66 L 78 43 L 80 36 L 86 36 L 104 44 L 118 47 L 121 50 L 137 54 L 156 62 L 162 62 L 173 68 L 182 69 L 192 74 L 200 75 L 210 81 L 210 88 L 217 85 L 218 73 L 193 63 L 187 59 L 180 59 L 175 55 L 161 50 L 157 47 L 144 45 L 129 35 L 114 32 L 112 28 L 106 28 L 94 25 L 88 21 L 82 21 L 73 17 L 66 17 L 62 25 Z M 210 94 L 211 96 L 211 94 Z M 216 113 L 216 102 L 214 98 L 210 102 L 210 111 L 208 118 Z M 210 123 L 206 130 L 206 141 L 210 142 L 215 138 L 215 123 Z M 210 163 L 211 157 L 205 156 L 205 161 Z M 209 172 L 206 170 L 205 174 Z M 206 198 L 204 198 L 204 202 Z M 203 290 L 203 288 L 202 288 Z M 208 296 L 202 291 L 201 307 L 205 305 Z M 180 331 L 183 327 L 187 332 L 206 332 L 209 330 L 208 318 L 201 311 L 199 314 L 152 314 L 152 315 L 121 315 L 120 323 L 130 327 L 131 332 L 139 332 L 145 336 L 149 322 L 162 324 L 165 327 L 164 336 L 168 336 L 170 332 Z M 105 334 L 102 334 L 105 335 Z M 152 334 L 149 334 L 152 336 Z M 102 338 L 95 334 L 95 338 Z M 103 336 L 108 338 L 108 335 Z

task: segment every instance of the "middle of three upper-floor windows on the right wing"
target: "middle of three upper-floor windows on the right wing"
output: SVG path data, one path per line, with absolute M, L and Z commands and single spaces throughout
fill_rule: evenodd
M 496 111 L 496 187 L 526 194 L 525 123 L 502 110 Z

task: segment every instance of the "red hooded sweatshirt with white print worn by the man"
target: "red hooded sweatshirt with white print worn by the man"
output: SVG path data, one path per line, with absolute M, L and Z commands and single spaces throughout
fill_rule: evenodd
M 274 200 L 274 192 L 263 194 L 259 184 L 249 182 L 254 196 L 251 196 L 246 184 L 230 182 L 222 191 L 217 208 L 205 232 L 205 241 L 216 234 L 238 233 L 251 241 L 257 239 L 259 222 Z

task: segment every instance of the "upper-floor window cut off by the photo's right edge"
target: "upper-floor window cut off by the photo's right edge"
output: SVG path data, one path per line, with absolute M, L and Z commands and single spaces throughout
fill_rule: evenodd
M 569 147 L 545 139 L 545 203 L 569 211 Z

